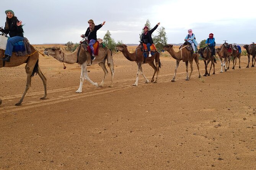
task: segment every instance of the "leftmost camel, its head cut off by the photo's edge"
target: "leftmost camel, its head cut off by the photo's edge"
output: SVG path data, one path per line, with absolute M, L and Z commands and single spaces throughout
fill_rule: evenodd
M 27 82 L 26 82 L 26 88 L 25 91 L 18 103 L 16 103 L 16 106 L 20 106 L 24 96 L 26 95 L 29 87 L 31 87 L 31 77 L 34 76 L 35 73 L 39 75 L 39 77 L 42 79 L 42 82 L 44 84 L 44 96 L 41 99 L 46 99 L 46 77 L 44 77 L 44 74 L 42 74 L 41 69 L 38 66 L 38 59 L 39 54 L 38 51 L 35 50 L 35 48 L 31 45 L 31 56 L 16 56 L 15 53 L 12 54 L 10 58 L 10 62 L 5 62 L 4 67 L 16 67 L 20 66 L 21 64 L 27 63 L 25 66 L 26 74 L 27 74 Z M 4 56 L 4 51 L 0 50 L 0 56 Z M 0 60 L 0 67 L 3 67 L 3 61 Z

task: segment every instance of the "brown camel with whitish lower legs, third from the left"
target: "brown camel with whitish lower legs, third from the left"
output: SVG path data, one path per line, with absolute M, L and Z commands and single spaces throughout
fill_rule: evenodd
M 159 73 L 159 68 L 161 68 L 161 63 L 160 63 L 160 55 L 158 52 L 151 52 L 152 56 L 151 57 L 147 57 L 144 58 L 143 56 L 143 51 L 141 50 L 141 46 L 139 45 L 136 50 L 134 51 L 134 53 L 129 53 L 129 51 L 127 50 L 127 45 L 122 44 L 122 45 L 117 45 L 116 46 L 116 50 L 119 50 L 123 53 L 123 55 L 129 60 L 129 61 L 135 61 L 138 65 L 138 71 L 137 71 L 137 77 L 136 77 L 136 81 L 133 84 L 134 86 L 138 86 L 138 81 L 139 81 L 139 73 L 141 72 L 141 74 L 143 75 L 144 79 L 146 80 L 145 83 L 148 83 L 148 79 L 146 78 L 146 76 L 143 73 L 142 70 L 142 64 L 146 64 L 148 63 L 153 69 L 154 69 L 154 74 L 153 77 L 151 79 L 151 82 L 157 83 L 157 78 L 154 81 L 154 76 L 155 73 L 157 73 L 157 77 L 158 77 L 158 73 Z M 148 56 L 148 52 L 147 56 Z M 156 63 L 156 66 L 154 64 L 154 60 Z M 144 62 L 145 61 L 145 62 Z

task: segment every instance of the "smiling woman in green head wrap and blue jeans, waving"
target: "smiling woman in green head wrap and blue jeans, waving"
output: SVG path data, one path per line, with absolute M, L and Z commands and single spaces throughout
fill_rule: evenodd
M 10 38 L 7 40 L 7 46 L 5 50 L 5 58 L 1 58 L 3 61 L 10 62 L 10 58 L 13 51 L 13 44 L 24 40 L 22 21 L 19 21 L 12 10 L 6 10 L 6 22 L 5 28 L 1 31 L 5 34 L 9 34 Z

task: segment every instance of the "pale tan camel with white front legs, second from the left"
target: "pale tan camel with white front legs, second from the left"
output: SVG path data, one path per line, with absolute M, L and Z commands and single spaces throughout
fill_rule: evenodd
M 81 65 L 81 76 L 80 76 L 80 86 L 76 93 L 82 93 L 82 87 L 83 87 L 83 81 L 86 79 L 88 82 L 90 82 L 92 85 L 95 85 L 96 87 L 103 87 L 104 80 L 108 74 L 108 70 L 106 68 L 106 60 L 108 62 L 108 66 L 111 72 L 111 84 L 109 87 L 113 87 L 113 78 L 114 78 L 114 67 L 113 67 L 113 56 L 111 50 L 109 50 L 107 47 L 99 48 L 98 56 L 95 56 L 95 60 L 91 63 L 91 55 L 90 53 L 85 50 L 85 48 L 78 46 L 77 49 L 70 54 L 65 54 L 60 47 L 52 47 L 52 48 L 46 48 L 44 50 L 45 55 L 51 55 L 53 58 L 57 59 L 58 61 L 62 63 L 68 63 L 68 64 L 75 64 L 78 63 Z M 101 68 L 104 71 L 104 77 L 101 81 L 100 85 L 98 83 L 93 82 L 88 74 L 87 74 L 87 65 L 90 64 L 99 64 Z

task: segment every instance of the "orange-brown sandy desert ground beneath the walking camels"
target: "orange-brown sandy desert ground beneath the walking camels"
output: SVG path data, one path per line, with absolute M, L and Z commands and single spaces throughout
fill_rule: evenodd
M 45 48 L 45 47 L 44 47 Z M 121 53 L 114 57 L 114 87 L 108 74 L 103 88 L 86 82 L 79 87 L 80 66 L 40 56 L 47 77 L 47 97 L 38 75 L 22 106 L 24 64 L 0 69 L 0 169 L 6 170 L 255 170 L 256 68 L 204 77 L 196 64 L 185 81 L 181 62 L 160 57 L 158 83 L 146 84 L 137 65 Z M 149 80 L 153 69 L 143 65 Z M 89 67 L 100 83 L 103 71 Z M 110 72 L 110 71 L 109 71 Z M 200 61 L 204 74 L 204 63 Z

